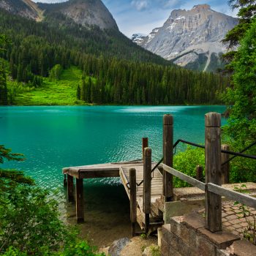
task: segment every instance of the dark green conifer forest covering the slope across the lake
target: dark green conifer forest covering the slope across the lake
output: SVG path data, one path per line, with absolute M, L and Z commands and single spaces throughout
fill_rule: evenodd
M 117 31 L 86 28 L 61 15 L 57 18 L 58 22 L 48 14 L 45 21 L 37 23 L 0 11 L 0 31 L 10 41 L 1 57 L 7 60 L 7 75 L 12 80 L 43 88 L 42 78 L 48 77 L 53 67 L 75 66 L 83 70 L 77 95 L 86 103 L 220 103 L 218 93 L 227 87 L 227 77 L 177 67 Z M 96 79 L 92 83 L 88 77 Z M 8 99 L 3 91 L 6 86 L 1 88 L 0 104 L 13 104 L 11 91 Z

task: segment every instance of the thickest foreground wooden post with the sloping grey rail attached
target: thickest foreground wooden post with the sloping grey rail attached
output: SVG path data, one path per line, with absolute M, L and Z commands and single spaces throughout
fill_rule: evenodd
M 163 174 L 169 173 L 171 176 L 181 178 L 183 181 L 192 184 L 192 186 L 202 189 L 206 193 L 206 228 L 211 232 L 222 230 L 222 196 L 231 200 L 244 203 L 246 206 L 256 208 L 256 198 L 249 195 L 225 189 L 221 187 L 222 183 L 228 180 L 227 172 L 229 166 L 222 167 L 222 162 L 227 162 L 227 154 L 222 150 L 228 151 L 228 146 L 221 146 L 221 115 L 219 113 L 206 114 L 206 141 L 205 141 L 205 161 L 206 161 L 206 183 L 198 181 L 195 178 L 187 176 L 172 166 L 162 164 Z M 165 136 L 164 136 L 165 138 Z M 164 143 L 165 146 L 165 143 Z M 166 182 L 163 178 L 163 181 Z M 164 185 L 165 186 L 165 185 Z M 173 186 L 170 186 L 173 187 Z M 165 190 L 163 189 L 163 193 Z M 165 195 L 165 194 L 164 194 Z

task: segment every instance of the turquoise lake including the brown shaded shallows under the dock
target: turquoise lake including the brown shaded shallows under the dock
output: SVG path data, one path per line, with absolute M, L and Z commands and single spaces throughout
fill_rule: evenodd
M 62 167 L 140 159 L 148 137 L 154 160 L 162 157 L 162 116 L 174 116 L 174 138 L 204 143 L 204 115 L 223 106 L 1 107 L 0 144 L 23 153 L 25 162 L 2 167 L 24 170 L 42 187 L 59 188 L 62 215 L 75 223 L 66 203 Z M 182 150 L 182 146 L 178 147 Z M 119 178 L 84 181 L 83 237 L 97 246 L 130 236 L 129 200 Z

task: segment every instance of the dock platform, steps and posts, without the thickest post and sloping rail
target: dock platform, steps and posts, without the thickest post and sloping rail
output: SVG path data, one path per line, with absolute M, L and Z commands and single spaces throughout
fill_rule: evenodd
M 163 118 L 163 154 L 163 163 L 172 166 L 173 116 L 170 115 Z M 120 177 L 130 200 L 132 235 L 135 236 L 136 222 L 145 233 L 162 225 L 164 203 L 173 196 L 173 176 L 167 172 L 162 175 L 160 165 L 158 167 L 156 162 L 152 162 L 148 138 L 142 140 L 142 158 L 129 162 L 63 168 L 68 200 L 76 202 L 77 221 L 84 221 L 83 179 Z

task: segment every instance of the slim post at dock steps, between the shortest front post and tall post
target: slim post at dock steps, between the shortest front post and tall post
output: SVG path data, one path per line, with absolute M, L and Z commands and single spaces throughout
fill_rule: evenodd
M 151 148 L 145 148 L 143 161 L 143 212 L 145 214 L 145 232 L 149 229 L 151 213 Z

